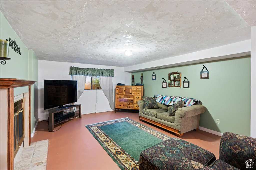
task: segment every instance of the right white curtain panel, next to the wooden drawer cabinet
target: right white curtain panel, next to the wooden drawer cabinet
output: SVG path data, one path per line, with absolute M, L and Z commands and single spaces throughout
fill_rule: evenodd
M 113 94 L 113 80 L 112 77 L 100 76 L 100 86 L 103 93 L 109 100 L 109 105 L 112 110 L 115 109 L 114 105 L 114 94 Z

